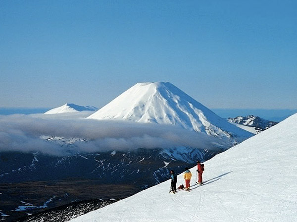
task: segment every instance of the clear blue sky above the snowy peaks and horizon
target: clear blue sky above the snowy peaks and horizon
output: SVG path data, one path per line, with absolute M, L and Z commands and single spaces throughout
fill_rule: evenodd
M 296 0 L 1 0 L 0 107 L 104 106 L 169 81 L 206 107 L 294 109 Z

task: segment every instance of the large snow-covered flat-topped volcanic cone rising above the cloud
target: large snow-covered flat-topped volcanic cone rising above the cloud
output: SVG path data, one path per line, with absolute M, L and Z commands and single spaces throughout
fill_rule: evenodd
M 173 124 L 232 143 L 252 136 L 169 82 L 137 83 L 87 118 Z

